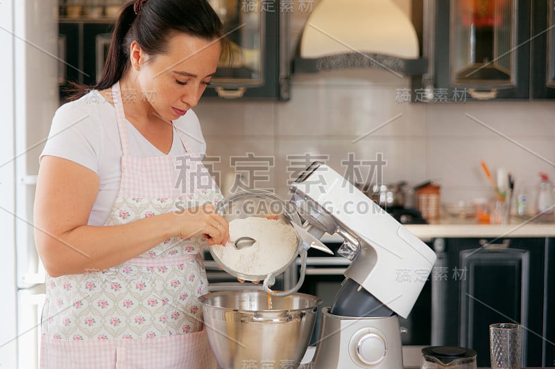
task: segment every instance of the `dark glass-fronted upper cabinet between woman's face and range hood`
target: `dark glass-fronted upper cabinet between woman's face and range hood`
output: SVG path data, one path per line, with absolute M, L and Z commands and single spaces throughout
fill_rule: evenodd
M 227 47 L 204 96 L 289 100 L 289 8 L 282 1 L 210 0 Z M 283 37 L 282 37 L 283 36 Z

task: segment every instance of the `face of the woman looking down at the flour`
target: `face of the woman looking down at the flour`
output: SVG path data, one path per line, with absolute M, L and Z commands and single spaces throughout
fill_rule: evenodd
M 153 114 L 166 121 L 185 115 L 216 73 L 220 42 L 175 33 L 169 38 L 167 53 L 155 57 L 148 57 L 134 44 L 131 57 L 133 66 L 138 66 L 137 87 L 141 90 L 137 102 L 140 98 L 150 104 Z

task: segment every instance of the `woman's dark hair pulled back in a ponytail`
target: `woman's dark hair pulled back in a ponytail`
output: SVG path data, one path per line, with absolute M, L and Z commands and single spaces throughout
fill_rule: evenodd
M 213 40 L 223 36 L 223 25 L 206 0 L 130 0 L 123 4 L 99 82 L 94 86 L 76 84 L 71 98 L 80 98 L 90 89 L 109 89 L 119 81 L 130 65 L 133 40 L 154 56 L 167 52 L 174 32 Z M 221 41 L 225 44 L 225 40 Z

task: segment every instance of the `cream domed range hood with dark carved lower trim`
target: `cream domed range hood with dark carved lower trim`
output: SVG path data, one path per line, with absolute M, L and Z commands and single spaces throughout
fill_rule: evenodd
M 302 32 L 293 69 L 375 68 L 425 73 L 411 19 L 392 0 L 321 0 Z

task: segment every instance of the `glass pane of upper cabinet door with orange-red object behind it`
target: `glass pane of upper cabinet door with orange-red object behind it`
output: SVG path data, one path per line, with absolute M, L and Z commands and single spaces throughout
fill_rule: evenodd
M 454 86 L 515 85 L 515 0 L 451 0 L 450 57 Z

